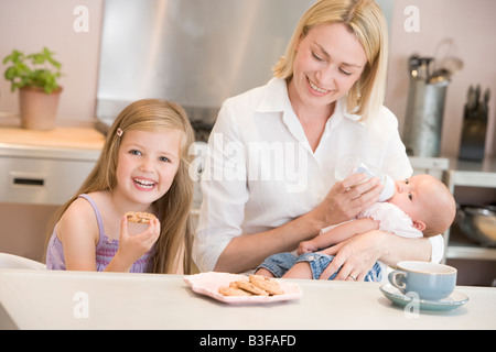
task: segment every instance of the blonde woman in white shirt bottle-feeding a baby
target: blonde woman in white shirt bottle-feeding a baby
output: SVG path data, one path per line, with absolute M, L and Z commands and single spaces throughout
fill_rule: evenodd
M 276 77 L 226 100 L 202 179 L 193 250 L 202 271 L 252 270 L 377 201 L 377 178 L 334 177 L 345 155 L 393 179 L 411 175 L 398 122 L 382 107 L 386 33 L 371 0 L 319 1 L 300 20 Z M 439 238 L 367 232 L 337 244 L 321 278 L 342 267 L 336 279 L 363 279 L 379 258 L 387 264 L 439 260 Z

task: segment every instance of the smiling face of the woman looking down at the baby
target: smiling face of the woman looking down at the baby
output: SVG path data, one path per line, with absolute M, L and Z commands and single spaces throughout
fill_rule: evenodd
M 293 106 L 328 107 L 346 95 L 367 64 L 356 35 L 341 23 L 315 26 L 300 38 L 289 95 Z

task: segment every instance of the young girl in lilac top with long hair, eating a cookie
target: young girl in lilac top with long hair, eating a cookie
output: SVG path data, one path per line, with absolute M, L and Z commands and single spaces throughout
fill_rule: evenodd
M 193 141 L 193 129 L 177 105 L 144 99 L 125 108 L 95 168 L 55 215 L 46 267 L 188 273 Z M 130 234 L 128 211 L 157 219 Z

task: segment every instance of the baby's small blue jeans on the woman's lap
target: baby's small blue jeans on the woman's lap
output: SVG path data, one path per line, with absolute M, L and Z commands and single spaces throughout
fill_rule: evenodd
M 295 256 L 291 253 L 279 253 L 273 254 L 266 258 L 257 270 L 266 268 L 272 273 L 276 277 L 281 277 L 284 275 L 294 264 L 306 262 L 310 264 L 312 271 L 312 277 L 317 279 L 328 264 L 333 261 L 333 255 L 322 254 L 322 253 L 304 253 L 300 256 Z M 339 270 L 335 272 L 328 279 L 334 279 L 339 273 Z M 374 264 L 374 267 L 365 276 L 366 282 L 379 282 L 382 276 L 382 271 L 378 263 Z

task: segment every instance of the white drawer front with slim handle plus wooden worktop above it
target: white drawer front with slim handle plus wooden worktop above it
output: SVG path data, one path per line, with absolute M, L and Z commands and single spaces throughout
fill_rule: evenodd
M 95 166 L 104 140 L 94 129 L 0 128 L 0 202 L 64 204 Z

